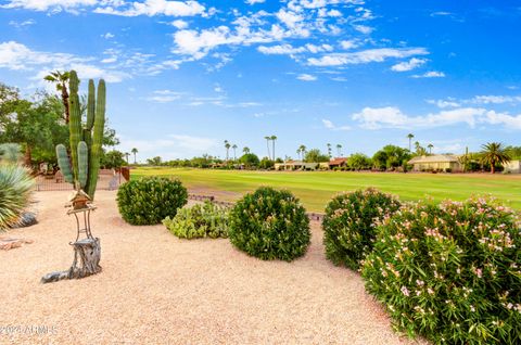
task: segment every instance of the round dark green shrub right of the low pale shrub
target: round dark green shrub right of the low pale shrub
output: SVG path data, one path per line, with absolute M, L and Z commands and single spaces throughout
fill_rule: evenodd
M 237 248 L 252 256 L 291 261 L 306 253 L 309 219 L 291 192 L 262 187 L 232 208 L 229 237 Z

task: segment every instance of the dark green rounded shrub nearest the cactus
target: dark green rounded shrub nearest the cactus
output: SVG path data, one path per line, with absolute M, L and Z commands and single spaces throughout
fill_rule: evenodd
M 176 216 L 187 199 L 188 192 L 181 181 L 147 177 L 119 187 L 117 207 L 123 219 L 131 225 L 156 225 L 168 216 Z

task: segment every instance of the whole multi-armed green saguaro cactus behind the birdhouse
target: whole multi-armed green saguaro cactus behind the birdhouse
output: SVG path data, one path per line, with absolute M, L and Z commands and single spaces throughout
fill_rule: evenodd
M 93 200 L 105 128 L 105 81 L 100 79 L 98 82 L 98 97 L 96 97 L 94 81 L 89 80 L 85 124 L 81 123 L 78 85 L 76 72 L 71 71 L 68 86 L 71 159 L 63 144 L 56 145 L 56 156 L 65 181 L 73 183 L 76 189 L 82 189 Z

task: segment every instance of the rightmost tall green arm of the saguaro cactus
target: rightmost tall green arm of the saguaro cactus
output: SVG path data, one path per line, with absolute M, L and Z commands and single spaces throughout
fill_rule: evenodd
M 98 182 L 98 171 L 100 169 L 100 156 L 102 153 L 102 140 L 105 129 L 105 81 L 100 79 L 98 84 L 98 97 L 96 103 L 94 129 L 92 133 L 92 146 L 89 158 L 89 180 L 87 194 L 93 200 L 96 184 Z

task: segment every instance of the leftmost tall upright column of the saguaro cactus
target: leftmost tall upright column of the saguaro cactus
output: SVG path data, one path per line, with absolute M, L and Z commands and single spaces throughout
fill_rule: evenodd
M 69 107 L 69 133 L 71 133 L 71 158 L 73 164 L 73 176 L 74 180 L 78 179 L 78 143 L 82 138 L 81 131 L 81 111 L 79 105 L 78 97 L 78 76 L 75 71 L 71 71 L 69 75 L 69 98 L 68 98 L 68 107 Z

